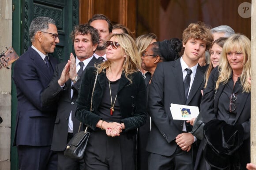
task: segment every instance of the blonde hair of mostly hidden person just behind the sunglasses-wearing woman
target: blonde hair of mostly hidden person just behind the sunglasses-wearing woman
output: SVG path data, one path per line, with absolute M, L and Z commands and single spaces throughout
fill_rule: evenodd
M 154 33 L 144 34 L 136 38 L 135 42 L 138 49 L 139 57 L 142 57 L 142 54 L 150 45 L 152 40 L 157 40 L 157 36 Z

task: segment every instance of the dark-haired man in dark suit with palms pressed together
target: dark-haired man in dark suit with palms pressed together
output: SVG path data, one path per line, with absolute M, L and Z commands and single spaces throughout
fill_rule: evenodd
M 53 80 L 42 93 L 43 105 L 58 104 L 52 150 L 57 151 L 58 170 L 84 170 L 82 160 L 64 156 L 64 149 L 73 134 L 79 130 L 75 118 L 75 101 L 78 96 L 83 70 L 98 61 L 93 53 L 99 41 L 98 31 L 88 24 L 76 25 L 71 34 L 76 58 L 71 53 L 67 63 L 57 65 Z M 83 130 L 83 126 L 80 128 Z

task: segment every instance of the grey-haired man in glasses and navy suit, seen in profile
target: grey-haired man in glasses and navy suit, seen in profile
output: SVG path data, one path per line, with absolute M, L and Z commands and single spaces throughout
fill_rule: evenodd
M 57 65 L 48 53 L 60 40 L 55 22 L 48 17 L 34 18 L 29 36 L 32 46 L 16 61 L 13 74 L 18 98 L 14 146 L 20 170 L 56 170 L 57 156 L 50 151 L 56 105 L 44 107 L 41 93 Z

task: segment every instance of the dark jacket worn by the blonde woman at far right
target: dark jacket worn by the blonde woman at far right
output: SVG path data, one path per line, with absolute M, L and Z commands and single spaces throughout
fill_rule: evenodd
M 216 118 L 215 108 L 218 108 L 219 97 L 222 94 L 222 91 L 225 87 L 225 84 L 220 83 L 216 96 L 215 102 L 213 106 L 213 98 L 214 98 L 214 88 L 215 82 L 218 79 L 216 77 L 216 73 L 218 72 L 218 67 L 212 70 L 209 80 L 207 82 L 207 87 L 203 90 L 203 99 L 201 103 L 200 112 L 203 113 L 203 120 L 205 123 L 209 122 L 212 119 Z M 218 75 L 218 74 L 217 74 Z M 238 149 L 240 161 L 243 164 L 244 168 L 246 167 L 246 163 L 250 161 L 250 121 L 251 121 L 251 93 L 242 93 L 239 97 L 243 98 L 241 103 L 236 106 L 236 120 L 234 124 L 241 124 L 244 128 L 244 142 L 241 147 Z

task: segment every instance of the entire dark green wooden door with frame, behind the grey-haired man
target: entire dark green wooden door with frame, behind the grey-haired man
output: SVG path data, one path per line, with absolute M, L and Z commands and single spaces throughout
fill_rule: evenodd
M 17 54 L 23 54 L 31 46 L 29 40 L 30 22 L 38 16 L 53 18 L 56 22 L 60 43 L 53 56 L 60 62 L 67 61 L 72 52 L 70 33 L 79 21 L 79 0 L 13 0 L 12 13 L 12 47 Z M 15 63 L 12 65 L 15 65 Z M 11 144 L 13 143 L 16 121 L 16 89 L 11 88 Z M 16 147 L 11 147 L 11 170 L 18 169 Z

